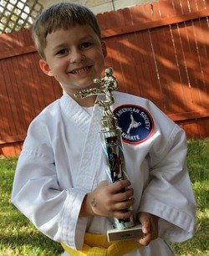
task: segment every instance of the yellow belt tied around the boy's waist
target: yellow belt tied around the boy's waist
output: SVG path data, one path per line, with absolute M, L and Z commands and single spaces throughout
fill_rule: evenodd
M 72 256 L 122 256 L 125 253 L 140 248 L 140 243 L 134 240 L 124 240 L 115 243 L 109 243 L 105 234 L 85 233 L 84 246 L 82 250 L 74 250 L 64 243 L 61 243 L 64 250 Z

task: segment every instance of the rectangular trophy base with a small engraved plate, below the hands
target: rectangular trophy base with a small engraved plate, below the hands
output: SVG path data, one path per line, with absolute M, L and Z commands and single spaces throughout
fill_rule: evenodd
M 137 224 L 133 228 L 125 228 L 125 229 L 116 229 L 116 228 L 113 228 L 112 226 L 108 227 L 107 238 L 108 238 L 108 242 L 143 238 L 141 225 Z

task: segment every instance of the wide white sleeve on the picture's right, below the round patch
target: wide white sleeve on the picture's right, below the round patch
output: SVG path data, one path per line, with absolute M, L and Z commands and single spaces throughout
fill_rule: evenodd
M 140 212 L 160 217 L 159 234 L 181 242 L 191 238 L 195 228 L 196 202 L 186 166 L 186 136 L 175 125 L 166 146 L 151 154 L 150 182 L 143 192 Z

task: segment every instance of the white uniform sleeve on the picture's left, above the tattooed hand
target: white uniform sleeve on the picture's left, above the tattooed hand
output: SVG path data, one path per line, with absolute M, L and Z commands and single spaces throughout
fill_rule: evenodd
M 87 219 L 79 218 L 79 211 L 85 194 L 78 188 L 59 187 L 47 129 L 32 125 L 18 159 L 13 204 L 49 238 L 81 248 Z

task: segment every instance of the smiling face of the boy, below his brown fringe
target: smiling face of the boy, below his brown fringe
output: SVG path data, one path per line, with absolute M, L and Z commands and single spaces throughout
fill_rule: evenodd
M 46 60 L 39 63 L 45 74 L 54 76 L 73 97 L 79 90 L 96 86 L 93 79 L 104 69 L 106 49 L 93 28 L 76 25 L 60 29 L 48 34 L 46 40 Z

